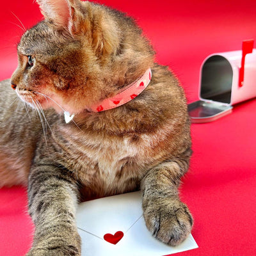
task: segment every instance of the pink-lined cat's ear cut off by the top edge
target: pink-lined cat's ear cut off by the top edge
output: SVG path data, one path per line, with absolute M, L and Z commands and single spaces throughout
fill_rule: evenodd
M 51 20 L 58 28 L 72 32 L 78 0 L 36 0 L 46 20 Z

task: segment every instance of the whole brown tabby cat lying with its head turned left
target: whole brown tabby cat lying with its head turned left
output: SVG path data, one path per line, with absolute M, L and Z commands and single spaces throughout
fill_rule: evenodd
M 0 84 L 0 187 L 28 186 L 35 236 L 27 255 L 81 255 L 79 200 L 138 189 L 148 230 L 180 244 L 193 219 L 178 192 L 191 156 L 179 82 L 124 13 L 37 2 L 45 19 L 21 37 L 19 66 Z M 140 94 L 102 108 L 143 76 Z

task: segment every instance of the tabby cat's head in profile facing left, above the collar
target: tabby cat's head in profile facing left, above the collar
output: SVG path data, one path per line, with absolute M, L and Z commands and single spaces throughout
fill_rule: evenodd
M 80 0 L 37 0 L 44 20 L 24 33 L 11 83 L 36 107 L 79 113 L 152 65 L 132 19 Z

